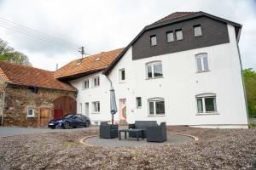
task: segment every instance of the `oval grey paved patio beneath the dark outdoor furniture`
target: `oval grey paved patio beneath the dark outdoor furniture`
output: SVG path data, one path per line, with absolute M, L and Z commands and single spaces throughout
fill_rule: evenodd
M 102 147 L 138 147 L 138 146 L 147 146 L 147 145 L 166 145 L 166 144 L 181 144 L 189 141 L 193 141 L 191 137 L 176 135 L 176 134 L 167 134 L 167 141 L 163 143 L 155 143 L 155 142 L 147 142 L 147 139 L 141 139 L 137 141 L 136 138 L 129 138 L 127 135 L 127 139 L 125 139 L 125 135 L 122 134 L 122 139 L 100 139 L 99 136 L 91 137 L 89 139 L 84 139 L 85 144 L 90 144 L 94 146 L 102 146 Z

